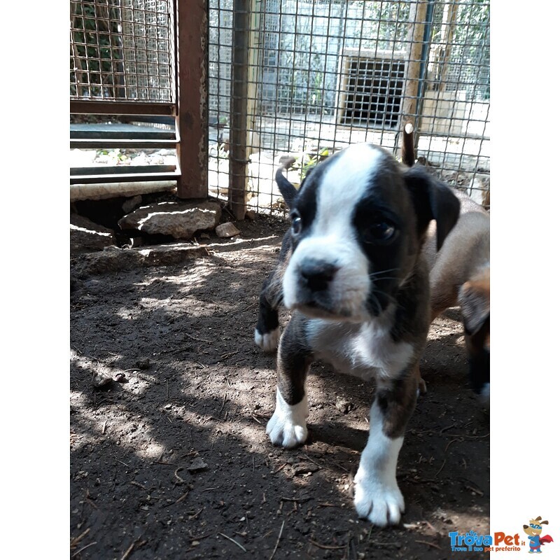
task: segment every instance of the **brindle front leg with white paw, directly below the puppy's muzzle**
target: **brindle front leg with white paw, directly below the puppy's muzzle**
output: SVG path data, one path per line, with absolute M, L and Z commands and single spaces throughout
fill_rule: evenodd
M 270 441 L 283 447 L 295 447 L 307 440 L 309 416 L 305 377 L 311 352 L 298 336 L 297 315 L 293 316 L 280 339 L 277 357 L 276 409 L 267 423 Z

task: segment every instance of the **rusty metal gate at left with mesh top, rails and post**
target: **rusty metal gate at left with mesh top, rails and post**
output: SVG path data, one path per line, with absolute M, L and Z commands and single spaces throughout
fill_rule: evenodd
M 167 148 L 177 157 L 79 167 L 71 183 L 170 179 L 180 197 L 207 195 L 205 29 L 204 0 L 70 1 L 70 112 L 112 116 L 71 125 L 71 148 Z

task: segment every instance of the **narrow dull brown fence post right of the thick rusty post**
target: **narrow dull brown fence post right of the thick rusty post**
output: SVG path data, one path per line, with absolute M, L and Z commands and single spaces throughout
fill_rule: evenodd
M 251 0 L 233 3 L 232 103 L 230 117 L 230 190 L 228 202 L 237 220 L 245 218 L 247 187 L 247 81 Z

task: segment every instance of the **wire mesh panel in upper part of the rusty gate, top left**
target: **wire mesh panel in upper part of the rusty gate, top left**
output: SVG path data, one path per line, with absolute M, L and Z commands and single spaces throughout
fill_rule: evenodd
M 70 97 L 176 101 L 173 0 L 71 0 Z

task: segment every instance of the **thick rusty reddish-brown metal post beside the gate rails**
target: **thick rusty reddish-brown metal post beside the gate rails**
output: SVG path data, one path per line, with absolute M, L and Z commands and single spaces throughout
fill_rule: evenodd
M 208 0 L 176 0 L 179 198 L 208 196 Z

